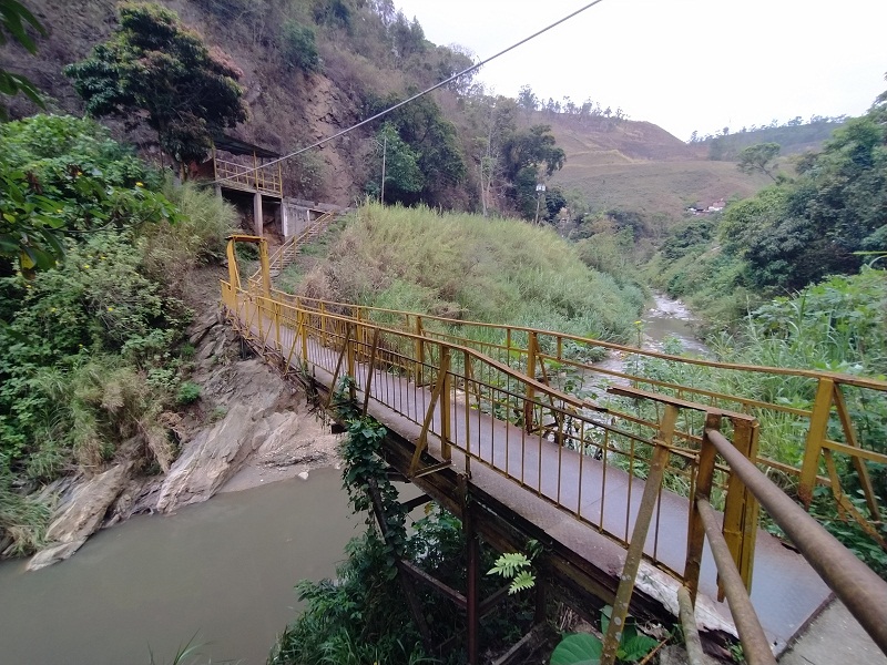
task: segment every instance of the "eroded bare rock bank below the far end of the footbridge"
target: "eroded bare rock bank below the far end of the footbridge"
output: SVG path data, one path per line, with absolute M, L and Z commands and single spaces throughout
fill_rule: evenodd
M 220 491 L 306 478 L 312 469 L 338 464 L 338 436 L 299 388 L 254 357 L 222 319 L 214 277 L 211 270 L 200 277 L 206 283 L 193 304 L 202 314 L 188 330 L 195 347 L 191 380 L 201 397 L 184 415 L 162 419 L 180 446 L 169 472 L 143 474 L 136 460 L 145 443 L 136 437 L 102 472 L 45 488 L 55 508 L 47 545 L 29 570 L 68 559 L 99 529 L 134 514 L 172 513 Z

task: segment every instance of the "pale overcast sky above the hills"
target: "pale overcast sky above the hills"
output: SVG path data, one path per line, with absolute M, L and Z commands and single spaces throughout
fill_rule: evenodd
M 436 44 L 486 59 L 589 0 L 395 0 Z M 618 106 L 691 132 L 859 115 L 887 90 L 887 0 L 603 0 L 479 79 L 517 96 Z

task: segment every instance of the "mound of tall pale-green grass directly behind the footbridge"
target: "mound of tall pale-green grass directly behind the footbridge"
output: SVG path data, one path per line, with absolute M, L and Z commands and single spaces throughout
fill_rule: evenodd
M 361 207 L 303 295 L 625 340 L 642 290 L 589 269 L 550 228 L 514 219 Z

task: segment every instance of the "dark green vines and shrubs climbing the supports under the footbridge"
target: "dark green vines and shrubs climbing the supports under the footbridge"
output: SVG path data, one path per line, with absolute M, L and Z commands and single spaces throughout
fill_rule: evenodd
M 408 516 L 378 454 L 385 428 L 360 417 L 347 402 L 349 381 L 347 378 L 343 381 L 336 397 L 339 416 L 348 427 L 340 449 L 345 461 L 343 481 L 355 512 L 370 509 L 370 487 L 378 488 L 388 538 L 381 538 L 369 513 L 367 532 L 348 545 L 348 560 L 336 571 L 336 581 L 298 583 L 296 590 L 299 600 L 306 603 L 305 612 L 279 637 L 269 663 L 463 663 L 465 653 L 460 648 L 451 648 L 440 657 L 431 657 L 425 651 L 408 603 L 404 602 L 395 563 L 396 557 L 410 561 L 466 593 L 467 548 L 461 523 L 440 508 L 429 505 L 426 515 L 407 530 Z M 491 567 L 493 559 L 493 552 L 482 545 L 481 565 Z M 481 597 L 488 597 L 499 584 L 491 576 L 479 582 Z M 416 585 L 415 591 L 427 618 L 431 644 L 443 644 L 458 636 L 462 611 L 442 601 L 428 586 Z M 503 602 L 496 617 L 482 623 L 483 644 L 492 649 L 507 648 L 529 630 L 532 616 L 530 598 L 516 596 Z M 461 643 L 462 640 L 457 642 Z

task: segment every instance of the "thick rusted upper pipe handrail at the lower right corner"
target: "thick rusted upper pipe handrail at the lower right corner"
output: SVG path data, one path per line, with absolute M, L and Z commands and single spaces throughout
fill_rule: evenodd
M 792 501 L 721 432 L 710 432 L 717 452 L 788 535 L 884 653 L 887 653 L 887 582 L 859 561 L 822 524 Z

